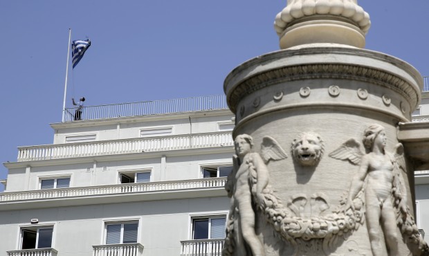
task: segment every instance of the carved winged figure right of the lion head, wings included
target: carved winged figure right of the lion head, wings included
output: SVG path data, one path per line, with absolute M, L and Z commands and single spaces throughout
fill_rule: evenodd
M 408 237 L 414 237 L 414 244 L 419 244 L 421 250 L 427 248 L 427 244 L 419 238 L 407 207 L 407 190 L 401 174 L 406 172 L 403 145 L 397 144 L 394 152 L 390 153 L 385 151 L 386 143 L 384 127 L 370 125 L 363 134 L 366 154 L 360 151 L 360 143 L 351 138 L 329 156 L 360 166 L 350 185 L 344 210 L 354 210 L 356 195 L 364 192 L 365 220 L 372 254 L 386 255 L 386 247 L 388 255 L 399 256 L 396 225 Z

